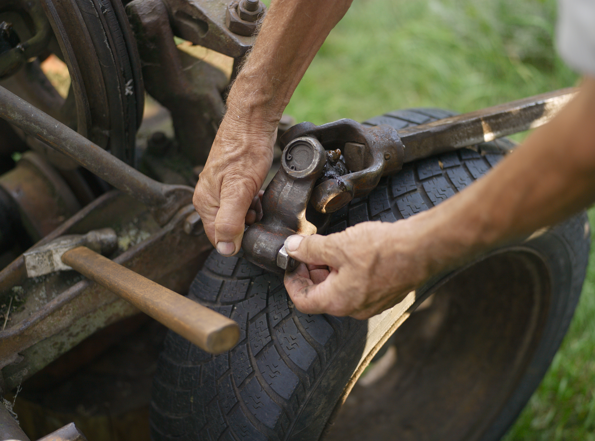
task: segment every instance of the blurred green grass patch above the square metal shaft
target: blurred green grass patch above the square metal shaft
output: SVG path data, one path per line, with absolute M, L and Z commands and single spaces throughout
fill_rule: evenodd
M 554 20 L 550 0 L 356 0 L 287 112 L 315 123 L 413 106 L 464 112 L 571 86 Z

